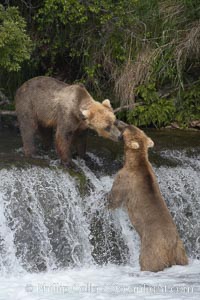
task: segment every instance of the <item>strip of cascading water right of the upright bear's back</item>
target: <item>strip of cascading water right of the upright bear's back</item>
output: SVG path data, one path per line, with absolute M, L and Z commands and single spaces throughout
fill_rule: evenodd
M 200 156 L 165 151 L 164 157 L 179 163 L 157 169 L 158 182 L 190 257 L 200 259 Z

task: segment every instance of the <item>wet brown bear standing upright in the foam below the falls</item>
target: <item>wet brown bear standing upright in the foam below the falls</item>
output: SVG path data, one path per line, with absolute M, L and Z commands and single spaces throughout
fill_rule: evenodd
M 141 239 L 142 271 L 157 272 L 172 265 L 186 265 L 183 243 L 148 160 L 148 148 L 154 143 L 137 127 L 124 123 L 122 127 L 125 163 L 108 196 L 109 208 L 122 204 L 127 208 Z

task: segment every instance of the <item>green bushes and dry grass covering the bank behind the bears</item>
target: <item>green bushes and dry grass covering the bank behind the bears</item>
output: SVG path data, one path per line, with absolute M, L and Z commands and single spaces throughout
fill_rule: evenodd
M 130 107 L 118 116 L 139 126 L 200 119 L 199 1 L 9 3 L 0 6 L 0 89 L 8 97 L 23 81 L 51 75 Z

